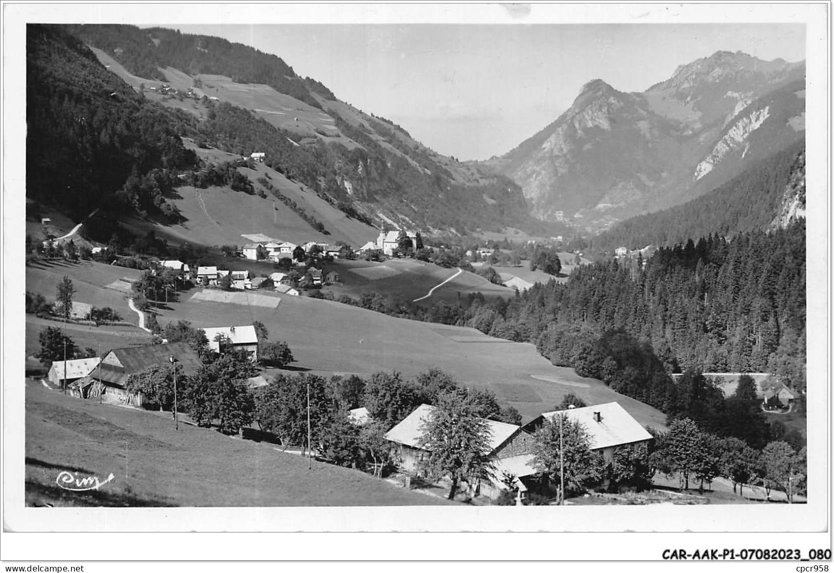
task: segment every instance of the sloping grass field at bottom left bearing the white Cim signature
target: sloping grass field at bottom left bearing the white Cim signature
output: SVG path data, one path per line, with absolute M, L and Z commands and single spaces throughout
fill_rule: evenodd
M 229 438 L 171 416 L 78 400 L 26 385 L 27 505 L 440 505 L 360 471 L 274 445 Z M 114 479 L 98 492 L 59 489 L 68 470 Z

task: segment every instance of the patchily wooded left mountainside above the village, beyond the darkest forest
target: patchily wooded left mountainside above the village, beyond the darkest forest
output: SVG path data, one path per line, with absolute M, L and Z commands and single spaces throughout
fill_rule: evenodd
M 268 123 L 254 108 L 214 101 L 216 97 L 203 96 L 194 103 L 198 113 L 172 110 L 169 117 L 178 133 L 198 144 L 242 155 L 266 153 L 270 167 L 304 183 L 331 204 L 341 205 L 346 213 L 378 226 L 394 221 L 426 232 L 465 234 L 513 226 L 551 234 L 552 229 L 530 217 L 520 187 L 510 179 L 483 176 L 443 158 L 415 142 L 403 128 L 335 100 L 333 93 L 311 78 L 299 78 L 277 56 L 221 38 L 162 28 L 84 25 L 65 29 L 140 78 L 165 78 L 162 69 L 177 68 L 191 74 L 197 88 L 198 74 L 215 74 L 231 78 L 244 90 L 249 83 L 266 84 L 321 109 L 328 114 L 323 117 L 332 118 L 329 121 L 338 133 L 319 130 L 314 137 L 302 135 Z M 115 78 L 111 81 L 118 83 Z M 126 86 L 121 89 L 128 91 Z

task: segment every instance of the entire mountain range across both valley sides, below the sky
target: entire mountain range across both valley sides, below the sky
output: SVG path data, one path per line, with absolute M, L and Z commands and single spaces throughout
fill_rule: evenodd
M 278 56 L 222 38 L 29 25 L 27 62 L 27 161 L 39 166 L 27 171 L 28 198 L 76 220 L 128 206 L 177 223 L 165 198 L 183 178 L 235 187 L 229 168 L 203 177 L 208 156 L 261 152 L 296 195 L 318 195 L 323 209 L 368 234 L 371 225 L 597 232 L 720 188 L 805 134 L 805 63 L 744 53 L 681 65 L 642 93 L 592 80 L 509 153 L 466 163 L 339 100 Z

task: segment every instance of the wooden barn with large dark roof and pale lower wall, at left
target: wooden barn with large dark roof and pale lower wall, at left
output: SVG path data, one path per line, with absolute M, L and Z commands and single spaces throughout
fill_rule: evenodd
M 166 366 L 170 364 L 171 356 L 186 376 L 196 374 L 203 364 L 187 342 L 112 349 L 101 359 L 101 364 L 74 383 L 74 393 L 83 398 L 101 395 L 102 401 L 110 404 L 141 406 L 143 397 L 127 390 L 128 377 L 151 366 Z

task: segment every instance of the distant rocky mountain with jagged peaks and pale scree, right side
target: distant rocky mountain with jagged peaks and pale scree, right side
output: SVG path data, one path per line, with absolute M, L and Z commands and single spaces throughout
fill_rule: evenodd
M 805 63 L 716 52 L 642 93 L 586 83 L 555 122 L 480 162 L 531 213 L 589 230 L 680 204 L 804 138 Z

